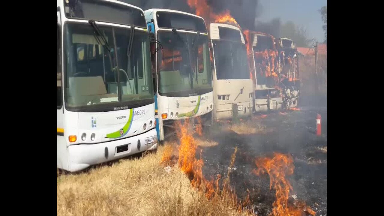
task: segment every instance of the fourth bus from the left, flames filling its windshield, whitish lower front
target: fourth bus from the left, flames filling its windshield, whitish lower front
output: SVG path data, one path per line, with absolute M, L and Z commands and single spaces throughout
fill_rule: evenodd
M 280 110 L 283 98 L 278 88 L 280 62 L 272 35 L 246 31 L 250 71 L 255 91 L 254 111 Z M 252 68 L 253 67 L 253 68 Z

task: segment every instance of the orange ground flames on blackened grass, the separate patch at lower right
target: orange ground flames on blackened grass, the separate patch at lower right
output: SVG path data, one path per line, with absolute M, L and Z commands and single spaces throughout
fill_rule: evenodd
M 316 213 L 303 202 L 288 203 L 289 192 L 292 186 L 287 175 L 293 174 L 293 160 L 290 155 L 274 153 L 273 158 L 258 158 L 255 161 L 257 169 L 253 173 L 257 175 L 268 173 L 270 177 L 270 189 L 276 190 L 276 201 L 273 203 L 272 214 L 274 216 L 301 216 L 304 211 L 311 215 Z

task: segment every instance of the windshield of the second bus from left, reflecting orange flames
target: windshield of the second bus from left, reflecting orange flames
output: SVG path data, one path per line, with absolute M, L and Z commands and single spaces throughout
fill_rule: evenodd
M 208 36 L 185 32 L 157 32 L 163 50 L 157 54 L 159 93 L 212 91 Z

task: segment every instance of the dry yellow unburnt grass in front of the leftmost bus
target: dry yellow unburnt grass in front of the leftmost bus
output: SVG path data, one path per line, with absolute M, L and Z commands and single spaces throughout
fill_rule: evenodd
M 241 215 L 208 201 L 177 167 L 161 165 L 165 147 L 81 174 L 57 178 L 57 215 Z

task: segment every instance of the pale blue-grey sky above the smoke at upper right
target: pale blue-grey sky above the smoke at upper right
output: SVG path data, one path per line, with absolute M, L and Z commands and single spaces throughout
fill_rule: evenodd
M 282 23 L 292 21 L 307 28 L 308 38 L 324 41 L 324 23 L 318 10 L 327 6 L 327 0 L 260 0 L 260 5 L 262 10 L 258 21 L 269 22 L 280 17 Z

